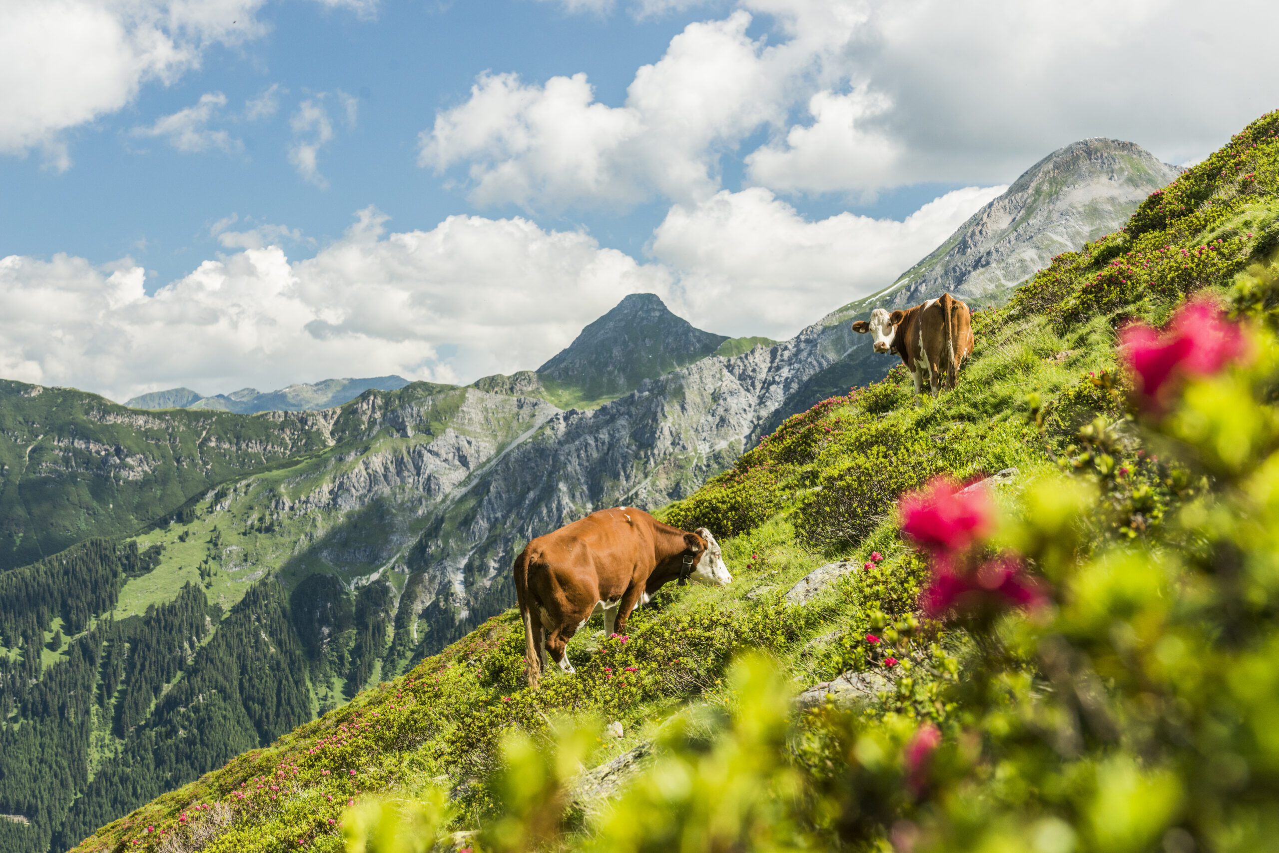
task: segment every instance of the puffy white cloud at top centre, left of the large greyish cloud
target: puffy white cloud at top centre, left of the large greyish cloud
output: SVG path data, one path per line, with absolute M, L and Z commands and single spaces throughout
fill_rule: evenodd
M 420 137 L 420 165 L 467 166 L 477 205 L 627 206 L 660 194 L 712 196 L 720 157 L 761 127 L 781 127 L 796 87 L 838 65 L 858 17 L 849 4 L 788 9 L 752 0 L 788 37 L 751 38 L 744 9 L 688 24 L 636 72 L 623 106 L 595 101 L 585 74 L 544 84 L 481 74 L 471 97 Z

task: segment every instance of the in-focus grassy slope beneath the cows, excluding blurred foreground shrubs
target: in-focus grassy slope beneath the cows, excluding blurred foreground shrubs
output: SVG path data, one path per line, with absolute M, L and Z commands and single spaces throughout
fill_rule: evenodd
M 1016 467 L 1018 473 L 1000 499 L 1012 506 L 1022 499 L 1027 481 L 1065 464 L 1096 472 L 1113 490 L 1104 509 L 1087 520 L 1091 538 L 1085 551 L 1140 537 L 1159 528 L 1163 519 L 1178 517 L 1183 501 L 1195 495 L 1184 483 L 1178 485 L 1181 474 L 1150 462 L 1149 449 L 1136 434 L 1126 432 L 1128 427 L 1120 425 L 1118 432 L 1081 427 L 1099 414 L 1120 414 L 1122 400 L 1110 390 L 1115 327 L 1134 317 L 1163 321 L 1187 293 L 1229 286 L 1250 263 L 1267 260 L 1279 247 L 1276 215 L 1279 115 L 1271 114 L 1147 198 L 1123 231 L 1060 254 L 1021 288 L 1008 307 L 984 312 L 977 320 L 977 349 L 955 391 L 939 400 L 912 399 L 908 382 L 899 371 L 893 372 L 787 419 L 724 474 L 668 506 L 664 515 L 673 523 L 705 524 L 721 536 L 735 575 L 730 587 L 665 590 L 654 607 L 632 622 L 627 642 L 600 637 L 597 623 L 590 623 L 569 645 L 577 674 L 547 679 L 538 692 L 522 688 L 522 632 L 514 614 L 503 614 L 422 661 L 407 677 L 155 799 L 102 827 L 77 849 L 160 849 L 166 841 L 146 827 L 184 839 L 194 829 L 179 826 L 178 818 L 202 803 L 212 804 L 200 816 L 205 821 L 200 824 L 203 849 L 293 849 L 301 840 L 307 849 L 338 850 L 341 841 L 333 821 L 343 820 L 348 799 L 377 790 L 412 797 L 436 784 L 451 790 L 455 829 L 482 826 L 503 810 L 495 799 L 500 780 L 491 786 L 482 784 L 500 763 L 503 732 L 519 726 L 541 738 L 535 743 L 545 744 L 553 712 L 581 719 L 593 714 L 618 720 L 624 732 L 620 740 L 604 746 L 593 762 L 657 738 L 679 748 L 678 738 L 661 733 L 669 721 L 684 719 L 679 716 L 684 708 L 733 706 L 723 679 L 733 652 L 742 647 L 769 651 L 774 669 L 797 687 L 854 674 L 858 683 L 870 685 L 865 719 L 885 726 L 884 732 L 913 728 L 917 717 L 948 726 L 973 724 L 962 715 L 952 716 L 955 711 L 941 701 L 948 691 L 962 688 L 955 668 L 972 660 L 963 657 L 963 636 L 943 632 L 926 642 L 909 639 L 926 568 L 899 537 L 891 518 L 894 501 L 936 473 L 966 478 Z M 1271 269 L 1262 278 L 1279 276 Z M 1251 286 L 1238 285 L 1237 303 L 1273 308 L 1273 289 Z M 1184 422 L 1184 435 L 1191 437 L 1183 441 L 1197 440 L 1197 423 Z M 1227 442 L 1218 451 L 1225 455 L 1229 449 Z M 1123 474 L 1117 473 L 1120 466 Z M 1182 518 L 1193 522 L 1198 515 L 1191 512 Z M 872 561 L 874 554 L 884 559 Z M 792 583 L 839 558 L 854 568 L 874 568 L 845 573 L 803 607 L 784 601 L 781 593 Z M 1145 583 L 1145 575 L 1132 577 L 1133 583 Z M 1094 582 L 1102 583 L 1100 578 Z M 1115 607 L 1122 607 L 1134 601 L 1137 592 L 1129 583 L 1115 587 L 1113 595 L 1118 596 Z M 1118 651 L 1099 651 L 1117 655 L 1115 660 L 1146 656 L 1131 645 L 1137 634 L 1129 643 L 1128 634 L 1115 633 L 1129 628 L 1128 623 L 1110 622 L 1118 618 L 1106 616 L 1097 628 Z M 900 669 L 886 666 L 883 653 L 863 639 L 871 632 L 907 650 Z M 1173 660 L 1160 657 L 1172 655 L 1172 648 L 1154 656 Z M 1108 666 L 1120 666 L 1105 660 Z M 1021 678 L 1009 671 L 1001 683 L 1013 685 Z M 1137 689 L 1145 688 L 1138 684 Z M 1048 684 L 1040 691 L 1053 692 Z M 1141 696 L 1129 708 L 1136 716 L 1120 720 L 1132 723 L 1138 733 L 1157 728 L 1152 724 L 1159 719 L 1149 714 L 1154 706 L 1141 705 Z M 1071 711 L 1082 715 L 1076 719 L 1087 717 L 1096 707 L 1087 692 L 1079 701 L 1081 708 Z M 1146 716 L 1141 716 L 1142 707 L 1147 707 Z M 1000 725 L 1007 729 L 1018 719 L 1009 712 L 991 725 L 1004 720 Z M 1051 729 L 1053 719 L 1041 723 Z M 1214 725 L 1227 723 L 1221 717 Z M 1094 726 L 1090 732 L 1104 732 L 1095 720 L 1088 725 Z M 711 729 L 711 721 L 696 724 L 691 748 L 705 753 Z M 1071 732 L 1068 726 L 1060 730 L 1065 733 L 1062 737 Z M 808 735 L 812 739 L 803 740 L 796 761 L 819 781 L 829 779 L 820 769 L 820 762 L 830 758 L 821 742 L 838 732 L 810 729 Z M 856 743 L 856 751 L 849 742 L 848 752 L 834 756 L 848 762 L 856 752 L 858 761 L 871 766 L 868 756 L 881 748 L 879 742 Z M 1060 749 L 1082 748 L 1072 746 L 1074 742 L 1054 743 Z M 1091 743 L 1085 746 L 1092 748 Z M 1037 766 L 1060 766 L 1062 755 L 1045 755 Z M 813 766 L 804 763 L 810 758 Z M 274 795 L 271 784 L 280 788 Z M 991 790 L 990 797 L 1016 799 L 1042 793 L 1014 788 Z M 1099 790 L 1097 802 L 1105 804 L 1109 801 L 1102 794 L 1109 789 Z M 874 790 L 863 793 L 871 797 Z M 856 792 L 848 795 L 854 804 L 872 802 L 859 801 Z M 564 801 L 549 802 L 563 806 Z M 893 804 L 891 810 L 898 810 L 893 812 L 885 806 L 885 813 L 900 813 L 900 808 L 904 806 Z M 679 812 L 679 820 L 693 820 L 689 813 Z M 940 820 L 939 813 L 920 813 L 918 820 Z M 886 833 L 893 820 L 879 831 Z M 599 831 L 599 825 L 592 826 Z M 648 830 L 632 825 L 632 833 Z M 821 833 L 835 827 L 817 826 L 815 831 L 826 839 L 822 845 L 834 845 L 834 836 Z M 570 835 L 569 845 L 586 844 L 585 838 Z M 1134 843 L 1096 849 L 1147 848 Z

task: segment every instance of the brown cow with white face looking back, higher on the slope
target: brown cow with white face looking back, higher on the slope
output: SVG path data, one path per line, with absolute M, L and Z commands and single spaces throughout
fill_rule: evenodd
M 972 317 L 968 306 L 949 293 L 906 311 L 889 313 L 875 308 L 871 318 L 858 320 L 853 331 L 871 333 L 877 353 L 897 353 L 914 380 L 914 393 L 922 391 L 927 377 L 936 396 L 943 379 L 954 390 L 959 366 L 972 353 Z

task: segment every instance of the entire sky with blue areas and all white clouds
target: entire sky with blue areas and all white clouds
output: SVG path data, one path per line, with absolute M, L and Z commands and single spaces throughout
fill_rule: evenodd
M 471 381 L 536 367 L 634 290 L 784 338 L 889 284 L 1056 147 L 1204 156 L 1274 106 L 1248 59 L 1274 17 L 12 0 L 0 375 L 116 399 Z

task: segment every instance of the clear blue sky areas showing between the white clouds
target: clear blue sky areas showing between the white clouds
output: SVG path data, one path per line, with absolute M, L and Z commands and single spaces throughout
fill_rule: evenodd
M 483 70 L 518 70 L 528 81 L 585 72 L 596 98 L 620 104 L 641 65 L 657 60 L 691 20 L 728 4 L 637 20 L 628 14 L 572 14 L 560 6 L 515 0 L 396 1 L 361 15 L 306 0 L 265 6 L 269 32 L 244 43 L 215 45 L 198 70 L 171 86 L 145 86 L 128 107 L 65 134 L 70 166 L 51 169 L 38 153 L 0 157 L 0 253 L 69 252 L 96 262 L 130 256 L 148 271 L 147 289 L 168 284 L 223 249 L 212 226 L 281 224 L 308 249 L 341 235 L 356 210 L 376 205 L 391 228 L 430 228 L 450 214 L 521 215 L 517 205 L 477 208 L 448 175 L 417 166 L 417 134 L 436 110 L 463 102 Z M 769 29 L 767 18 L 752 27 Z M 536 33 L 536 37 L 530 37 Z M 248 120 L 246 104 L 275 90 L 278 111 Z M 211 127 L 242 150 L 189 152 L 162 138 L 132 132 L 150 127 L 220 92 Z M 334 138 L 318 153 L 324 185 L 288 161 L 289 118 L 324 93 Z M 356 98 L 354 127 L 343 119 L 339 93 Z M 762 134 L 761 134 L 762 136 Z M 749 146 L 749 143 L 747 143 Z M 725 183 L 739 185 L 741 161 L 723 164 Z M 907 187 L 861 203 L 847 197 L 799 198 L 808 216 L 853 210 L 903 219 L 963 180 Z M 642 254 L 668 205 L 628 210 L 540 211 L 547 228 L 586 226 L 604 246 Z M 288 240 L 288 238 L 285 238 Z M 315 240 L 316 243 L 311 243 Z

